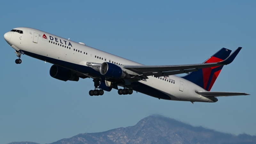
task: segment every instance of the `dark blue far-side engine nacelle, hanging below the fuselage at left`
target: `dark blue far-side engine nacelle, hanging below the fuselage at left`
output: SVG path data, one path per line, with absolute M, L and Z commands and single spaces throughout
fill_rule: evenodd
M 62 81 L 78 81 L 79 77 L 73 74 L 70 69 L 63 68 L 57 65 L 52 65 L 50 68 L 50 76 Z

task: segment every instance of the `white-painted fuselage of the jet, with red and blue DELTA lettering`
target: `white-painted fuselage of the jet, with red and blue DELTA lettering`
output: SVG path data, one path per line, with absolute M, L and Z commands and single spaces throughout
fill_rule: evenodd
M 40 60 L 44 60 L 45 58 L 52 58 L 52 60 L 56 60 L 56 62 L 44 61 L 61 65 L 59 62 L 68 62 L 70 64 L 81 65 L 84 67 L 88 67 L 86 62 L 111 62 L 117 65 L 142 65 L 140 63 L 127 60 L 121 58 L 119 56 L 100 51 L 98 49 L 94 49 L 92 47 L 76 43 L 74 41 L 70 41 L 68 39 L 52 35 L 50 33 L 46 33 L 44 31 L 40 31 L 34 28 L 15 28 L 23 31 L 23 34 L 17 32 L 8 32 L 12 33 L 11 38 L 7 41 L 8 44 L 12 46 L 16 51 L 24 51 L 36 54 Z M 38 34 L 38 35 L 37 35 Z M 9 34 L 10 35 L 10 34 Z M 36 41 L 37 36 L 38 40 Z M 43 36 L 47 36 L 47 39 Z M 51 37 L 50 37 L 51 36 Z M 50 42 L 49 42 L 50 41 Z M 53 44 L 54 43 L 54 44 Z M 57 43 L 57 44 L 56 44 Z M 61 45 L 61 46 L 60 46 Z M 29 54 L 28 54 L 29 55 Z M 69 68 L 69 65 L 65 65 L 63 67 Z M 71 68 L 72 69 L 72 68 Z M 74 69 L 74 68 L 73 68 Z M 77 70 L 79 71 L 79 70 Z M 96 70 L 95 70 L 96 72 Z M 87 75 L 87 73 L 84 73 Z M 88 76 L 88 75 L 87 75 Z M 167 79 L 166 79 L 167 78 Z M 206 91 L 200 86 L 183 79 L 179 76 L 169 76 L 169 77 L 154 77 L 148 76 L 147 81 L 139 81 L 139 83 L 147 85 L 149 88 L 155 89 L 157 91 L 163 92 L 168 95 L 171 100 L 180 100 L 180 101 L 192 101 L 192 102 L 216 102 L 217 99 L 207 98 L 197 94 L 195 91 Z M 140 92 L 139 90 L 136 90 Z M 144 93 L 144 92 L 142 92 Z

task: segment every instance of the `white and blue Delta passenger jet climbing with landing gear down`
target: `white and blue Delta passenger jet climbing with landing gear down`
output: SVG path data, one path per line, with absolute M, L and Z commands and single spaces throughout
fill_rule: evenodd
M 90 96 L 116 89 L 119 95 L 140 92 L 163 100 L 217 102 L 219 96 L 249 95 L 243 92 L 210 91 L 224 65 L 230 64 L 242 49 L 222 48 L 200 64 L 143 65 L 132 60 L 34 29 L 14 28 L 4 34 L 5 41 L 21 55 L 52 63 L 50 76 L 62 81 L 92 78 Z M 186 73 L 186 76 L 175 76 Z M 123 87 L 122 88 L 118 88 Z

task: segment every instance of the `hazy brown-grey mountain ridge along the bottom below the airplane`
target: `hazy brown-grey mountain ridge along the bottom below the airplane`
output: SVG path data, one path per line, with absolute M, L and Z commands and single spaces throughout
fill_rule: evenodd
M 51 144 L 256 144 L 256 136 L 194 127 L 164 116 L 148 116 L 136 125 L 106 132 L 83 133 Z M 25 144 L 25 143 L 10 143 Z M 29 143 L 28 143 L 29 144 Z M 32 143 L 31 143 L 32 144 Z

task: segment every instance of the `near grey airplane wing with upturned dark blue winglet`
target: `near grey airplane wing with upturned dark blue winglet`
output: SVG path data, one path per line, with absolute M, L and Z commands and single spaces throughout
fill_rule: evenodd
M 197 71 L 201 68 L 216 67 L 230 64 L 238 54 L 242 47 L 238 47 L 227 59 L 216 63 L 201 63 L 188 65 L 162 65 L 162 66 L 145 66 L 145 65 L 124 65 L 123 68 L 131 70 L 135 73 L 145 76 L 170 76 L 182 73 Z

